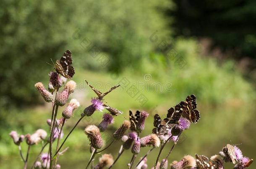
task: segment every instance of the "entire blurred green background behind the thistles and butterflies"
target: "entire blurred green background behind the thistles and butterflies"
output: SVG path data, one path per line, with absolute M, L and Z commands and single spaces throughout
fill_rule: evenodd
M 106 144 L 128 119 L 130 109 L 150 113 L 141 134 L 145 136 L 151 133 L 154 114 L 165 116 L 168 108 L 195 94 L 201 119 L 183 133 L 184 139 L 175 147 L 169 162 L 180 160 L 185 154 L 211 156 L 230 142 L 241 144 L 243 154 L 256 159 L 254 1 L 0 2 L 1 168 L 23 167 L 18 147 L 8 136 L 11 130 L 20 134 L 32 134 L 39 128 L 49 131 L 46 120 L 51 116 L 51 104 L 44 103 L 34 84 L 42 81 L 47 86 L 47 74 L 53 66 L 46 62 L 60 59 L 67 49 L 73 53 L 73 80 L 78 84 L 70 98 L 76 98 L 81 107 L 68 120 L 64 134 L 95 96 L 85 79 L 102 91 L 125 79 L 130 83 L 104 100 L 125 112 L 104 132 Z M 136 96 L 128 92 L 131 86 L 135 86 Z M 138 100 L 141 94 L 144 102 Z M 59 109 L 59 117 L 64 108 Z M 90 153 L 83 129 L 98 124 L 102 114 L 96 112 L 85 118 L 68 139 L 69 149 L 59 160 L 62 169 L 85 167 Z M 115 157 L 119 145 L 120 142 L 106 152 Z M 29 166 L 40 146 L 32 147 Z M 26 144 L 22 148 L 25 153 Z M 148 150 L 142 148 L 138 156 Z M 149 155 L 149 167 L 157 152 L 155 149 Z M 131 156 L 126 151 L 114 168 L 125 166 Z

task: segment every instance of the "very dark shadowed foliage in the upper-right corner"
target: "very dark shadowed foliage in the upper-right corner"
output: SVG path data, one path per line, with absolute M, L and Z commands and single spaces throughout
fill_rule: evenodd
M 256 1 L 172 0 L 175 35 L 210 37 L 237 57 L 256 58 Z M 232 56 L 234 57 L 234 55 Z M 255 65 L 254 65 L 255 68 Z

